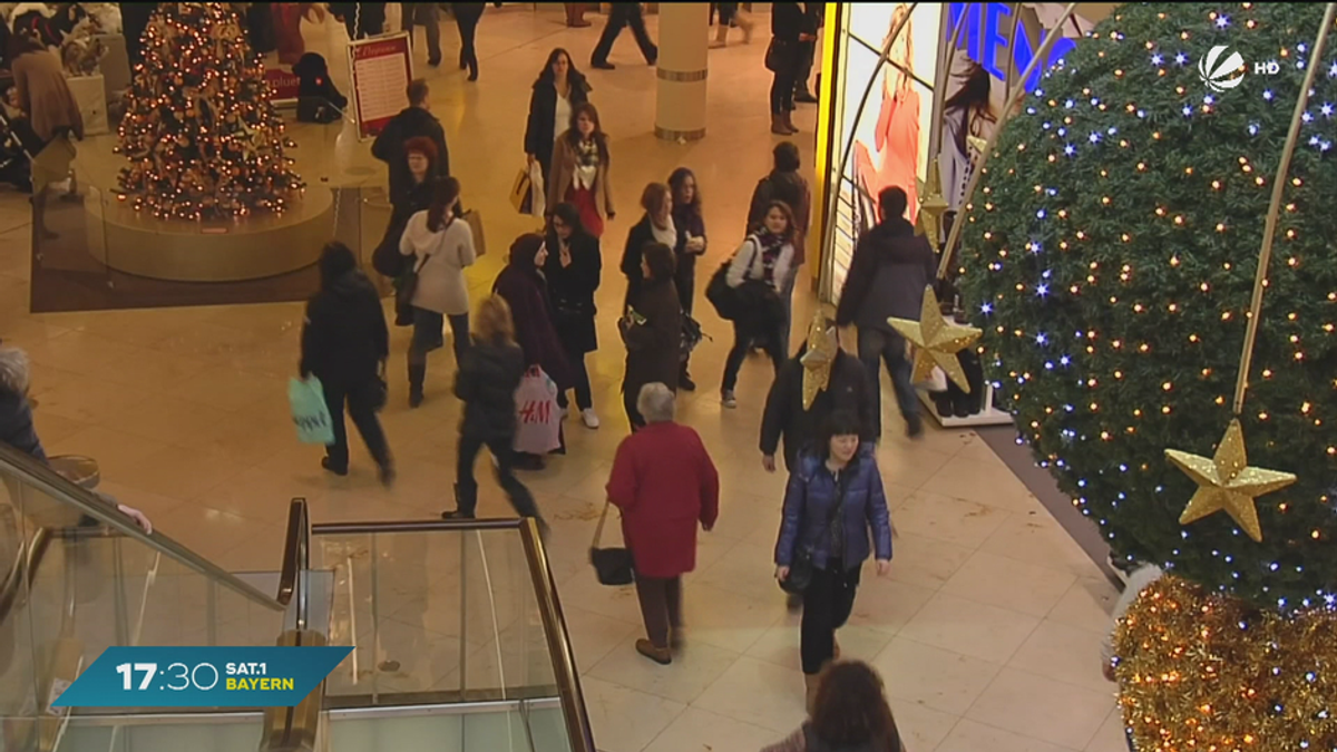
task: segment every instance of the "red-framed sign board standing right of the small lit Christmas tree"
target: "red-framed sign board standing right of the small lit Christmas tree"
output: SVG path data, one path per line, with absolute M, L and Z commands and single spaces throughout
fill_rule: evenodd
M 409 35 L 400 32 L 350 41 L 348 64 L 357 135 L 368 139 L 380 134 L 390 118 L 409 106 L 408 88 L 413 80 Z

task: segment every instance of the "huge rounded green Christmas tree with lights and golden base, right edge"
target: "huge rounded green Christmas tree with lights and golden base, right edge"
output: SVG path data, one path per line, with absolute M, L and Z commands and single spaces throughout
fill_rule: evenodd
M 1324 13 L 1120 7 L 1025 95 L 967 213 L 996 393 L 1115 557 L 1166 573 L 1116 640 L 1139 751 L 1337 749 Z

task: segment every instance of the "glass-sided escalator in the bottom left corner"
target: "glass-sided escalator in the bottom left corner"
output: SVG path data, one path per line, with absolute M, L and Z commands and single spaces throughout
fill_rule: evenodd
M 3 752 L 595 752 L 529 521 L 294 499 L 281 571 L 229 573 L 7 447 L 0 482 Z M 353 650 L 297 708 L 51 708 L 110 646 L 325 644 Z

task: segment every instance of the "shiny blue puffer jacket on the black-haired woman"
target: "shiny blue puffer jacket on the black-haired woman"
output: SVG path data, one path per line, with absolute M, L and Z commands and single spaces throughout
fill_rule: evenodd
M 858 447 L 854 460 L 845 467 L 845 504 L 836 523 L 842 535 L 842 569 L 858 567 L 869 553 L 876 553 L 878 561 L 892 558 L 892 518 L 886 510 L 886 494 L 882 488 L 882 475 L 877 470 L 873 444 Z M 813 452 L 805 452 L 798 459 L 798 467 L 789 475 L 785 488 L 785 511 L 779 526 L 779 539 L 775 541 L 775 565 L 789 566 L 800 546 L 813 547 L 813 566 L 828 569 L 832 537 L 826 534 L 830 523 L 832 506 L 837 502 L 836 478 L 826 468 L 826 462 Z M 872 546 L 869 546 L 872 533 Z

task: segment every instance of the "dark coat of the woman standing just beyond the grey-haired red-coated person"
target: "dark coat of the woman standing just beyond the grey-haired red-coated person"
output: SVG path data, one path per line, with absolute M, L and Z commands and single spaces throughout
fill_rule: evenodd
M 651 280 L 640 290 L 635 312 L 646 321 L 623 329 L 622 339 L 627 344 L 623 393 L 638 395 L 640 387 L 655 381 L 677 391 L 682 371 L 682 304 L 674 281 Z

